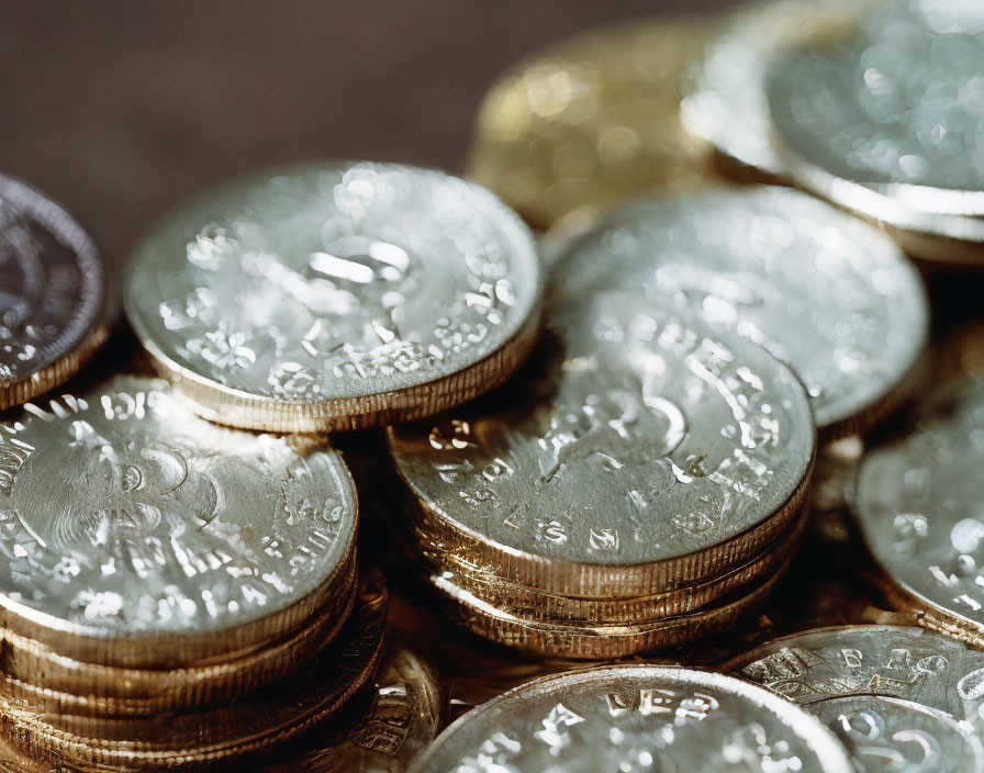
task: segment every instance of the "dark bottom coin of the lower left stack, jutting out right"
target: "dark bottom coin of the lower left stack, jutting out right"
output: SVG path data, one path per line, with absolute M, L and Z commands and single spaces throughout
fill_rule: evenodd
M 52 717 L 7 705 L 0 727 L 41 758 L 80 771 L 139 770 L 231 762 L 265 754 L 332 716 L 376 673 L 387 593 L 368 579 L 345 630 L 315 660 L 280 684 L 208 712 L 139 719 Z

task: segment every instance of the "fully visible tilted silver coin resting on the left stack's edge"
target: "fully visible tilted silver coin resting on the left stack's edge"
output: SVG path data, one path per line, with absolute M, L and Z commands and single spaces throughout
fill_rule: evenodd
M 417 418 L 503 381 L 528 352 L 529 231 L 438 171 L 311 164 L 227 183 L 136 249 L 124 303 L 202 416 L 284 432 Z

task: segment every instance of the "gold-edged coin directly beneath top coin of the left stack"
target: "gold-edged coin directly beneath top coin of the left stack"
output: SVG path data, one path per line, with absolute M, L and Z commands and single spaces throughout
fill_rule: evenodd
M 349 575 L 337 598 L 299 631 L 209 665 L 153 670 L 85 663 L 8 631 L 0 697 L 56 717 L 149 715 L 233 699 L 295 671 L 335 638 L 355 601 L 355 568 Z

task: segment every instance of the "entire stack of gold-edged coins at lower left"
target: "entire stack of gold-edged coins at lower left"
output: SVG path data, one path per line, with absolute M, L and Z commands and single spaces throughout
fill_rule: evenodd
M 222 760 L 371 676 L 385 594 L 357 591 L 354 484 L 326 441 L 213 425 L 122 376 L 12 414 L 0 460 L 16 744 L 83 770 Z

